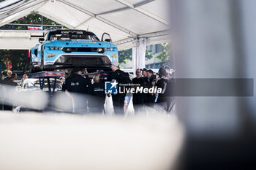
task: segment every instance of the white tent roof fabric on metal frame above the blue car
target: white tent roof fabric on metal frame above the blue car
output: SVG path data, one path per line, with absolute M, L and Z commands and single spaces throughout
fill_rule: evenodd
M 99 38 L 107 32 L 121 48 L 134 47 L 136 38 L 166 42 L 170 29 L 169 0 L 6 0 L 0 7 L 0 26 L 35 12 Z

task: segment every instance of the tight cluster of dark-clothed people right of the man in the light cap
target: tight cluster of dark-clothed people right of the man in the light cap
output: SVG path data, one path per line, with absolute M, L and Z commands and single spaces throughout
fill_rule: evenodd
M 135 113 L 145 112 L 145 107 L 154 107 L 156 109 L 170 112 L 175 104 L 173 98 L 174 80 L 173 73 L 170 73 L 170 67 L 160 68 L 158 73 L 151 69 L 136 69 L 136 77 L 132 79 L 134 84 L 146 88 L 157 87 L 162 89 L 162 93 L 134 93 L 133 106 Z

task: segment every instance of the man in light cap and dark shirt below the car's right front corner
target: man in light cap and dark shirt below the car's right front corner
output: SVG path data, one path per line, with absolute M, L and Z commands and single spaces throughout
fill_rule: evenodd
M 117 61 L 111 63 L 111 69 L 113 73 L 111 74 L 111 81 L 121 82 L 124 72 L 119 69 L 119 64 Z M 116 115 L 124 115 L 124 98 L 126 93 L 117 93 L 112 95 L 113 107 Z

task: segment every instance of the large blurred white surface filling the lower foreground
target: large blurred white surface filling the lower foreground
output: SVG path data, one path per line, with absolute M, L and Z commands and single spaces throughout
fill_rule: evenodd
M 0 112 L 1 169 L 170 169 L 184 131 L 175 116 Z

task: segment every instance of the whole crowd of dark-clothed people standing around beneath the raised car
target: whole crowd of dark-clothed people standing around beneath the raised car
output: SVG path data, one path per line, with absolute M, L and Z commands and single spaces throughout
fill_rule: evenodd
M 99 74 L 94 74 L 92 80 L 86 69 L 75 67 L 69 72 L 67 77 L 60 77 L 61 84 L 58 88 L 64 91 L 72 101 L 72 111 L 75 113 L 102 113 L 105 112 L 105 98 L 110 97 L 105 94 L 105 81 L 117 82 L 119 84 L 128 84 L 128 88 L 162 88 L 161 93 L 132 93 L 132 103 L 135 109 L 135 114 L 146 112 L 146 108 L 162 109 L 170 112 L 173 108 L 173 74 L 170 72 L 170 67 L 165 66 L 159 69 L 158 73 L 154 73 L 151 69 L 136 69 L 136 77 L 131 79 L 129 74 L 119 69 L 117 61 L 111 63 L 113 72 L 108 74 L 106 80 L 99 77 Z M 0 85 L 16 86 L 17 74 L 11 71 L 7 72 L 7 77 L 2 79 L 3 74 L 0 74 Z M 28 76 L 23 75 L 23 80 Z M 76 94 L 83 95 L 83 98 L 76 97 Z M 113 109 L 116 115 L 124 115 L 124 101 L 127 93 L 112 94 Z M 3 105 L 5 110 L 11 110 L 12 107 Z

